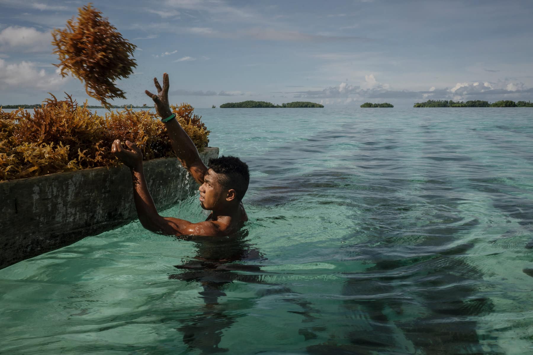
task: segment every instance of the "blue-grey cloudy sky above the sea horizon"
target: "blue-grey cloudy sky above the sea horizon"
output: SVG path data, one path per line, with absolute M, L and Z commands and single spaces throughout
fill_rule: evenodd
M 0 0 L 0 104 L 51 92 L 88 98 L 52 63 L 51 34 L 85 5 Z M 533 1 L 93 1 L 138 46 L 117 82 L 127 100 L 168 72 L 171 102 L 312 101 L 325 105 L 533 100 Z

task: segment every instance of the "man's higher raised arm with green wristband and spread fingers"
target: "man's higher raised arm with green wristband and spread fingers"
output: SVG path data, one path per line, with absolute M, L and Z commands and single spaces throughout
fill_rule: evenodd
M 207 172 L 207 167 L 200 159 L 200 154 L 191 138 L 176 119 L 172 118 L 172 110 L 168 104 L 168 74 L 163 74 L 163 87 L 159 85 L 157 78 L 154 78 L 154 84 L 156 85 L 157 95 L 150 93 L 146 90 L 148 96 L 154 100 L 157 114 L 161 117 L 161 120 L 165 122 L 165 126 L 168 132 L 168 138 L 172 144 L 172 148 L 176 153 L 177 159 L 180 160 L 182 166 L 189 170 L 192 177 L 198 184 L 204 183 L 204 175 Z M 170 118 L 169 120 L 167 120 Z

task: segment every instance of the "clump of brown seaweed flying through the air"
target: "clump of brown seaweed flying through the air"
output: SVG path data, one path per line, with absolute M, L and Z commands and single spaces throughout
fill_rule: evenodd
M 85 91 L 104 107 L 107 100 L 126 98 L 123 90 L 115 86 L 118 79 L 133 74 L 137 66 L 132 58 L 136 46 L 124 39 L 102 13 L 91 3 L 78 9 L 77 19 L 67 20 L 67 28 L 52 31 L 52 45 L 58 54 L 63 77 L 77 77 L 85 81 Z

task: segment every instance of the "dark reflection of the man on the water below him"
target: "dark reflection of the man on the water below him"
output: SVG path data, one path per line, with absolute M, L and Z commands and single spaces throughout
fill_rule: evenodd
M 228 351 L 219 348 L 219 343 L 222 340 L 222 331 L 235 323 L 236 317 L 229 315 L 223 304 L 219 304 L 219 298 L 226 295 L 223 289 L 233 281 L 267 284 L 263 282 L 262 275 L 240 275 L 232 272 L 262 273 L 260 266 L 254 262 L 264 261 L 266 258 L 248 244 L 247 236 L 248 231 L 241 230 L 225 238 L 180 237 L 196 243 L 196 256 L 183 260 L 181 265 L 175 265 L 176 269 L 183 271 L 168 275 L 168 278 L 197 282 L 204 289 L 199 292 L 205 303 L 203 311 L 177 328 L 183 333 L 183 342 L 190 349 L 196 348 L 202 353 Z M 279 288 L 277 291 L 286 292 L 286 289 Z

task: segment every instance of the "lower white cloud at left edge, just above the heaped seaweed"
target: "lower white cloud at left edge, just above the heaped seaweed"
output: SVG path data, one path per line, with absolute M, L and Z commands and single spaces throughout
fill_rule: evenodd
M 44 69 L 38 70 L 33 62 L 7 64 L 0 59 L 1 90 L 15 91 L 28 88 L 52 90 L 61 86 L 66 80 L 68 78 L 62 78 L 58 70 L 54 74 L 49 74 Z

